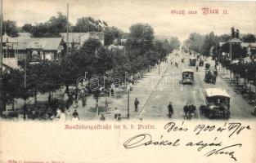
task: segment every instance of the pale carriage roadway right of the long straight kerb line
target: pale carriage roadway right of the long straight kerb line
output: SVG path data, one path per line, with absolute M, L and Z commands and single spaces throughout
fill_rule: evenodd
M 251 112 L 254 111 L 254 107 L 243 99 L 241 95 L 237 95 L 233 88 L 222 79 L 217 78 L 214 84 L 208 84 L 204 82 L 204 67 L 199 67 L 199 71 L 195 71 L 195 67 L 189 66 L 190 55 L 184 54 L 178 51 L 178 57 L 174 57 L 173 60 L 178 63 L 178 68 L 171 66 L 168 62 L 166 72 L 163 74 L 161 81 L 156 86 L 155 91 L 152 93 L 146 105 L 141 108 L 141 112 L 138 113 L 138 117 L 143 119 L 166 119 L 168 118 L 168 103 L 173 103 L 173 118 L 184 118 L 183 106 L 186 103 L 194 104 L 197 108 L 196 118 L 206 118 L 200 113 L 200 105 L 204 104 L 204 89 L 206 88 L 221 88 L 227 90 L 227 93 L 231 95 L 231 119 L 235 118 L 249 118 L 253 117 Z M 181 59 L 185 58 L 185 62 L 182 63 Z M 213 61 L 209 58 L 204 62 L 213 65 Z M 182 86 L 179 84 L 179 80 L 182 77 L 182 69 L 191 68 L 195 72 L 195 84 L 193 86 Z M 143 92 L 141 92 L 143 93 Z M 141 104 L 142 107 L 143 104 Z

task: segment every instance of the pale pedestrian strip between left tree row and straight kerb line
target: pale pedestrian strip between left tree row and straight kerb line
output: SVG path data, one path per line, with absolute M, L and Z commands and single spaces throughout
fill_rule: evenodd
M 171 57 L 171 56 L 170 56 Z M 170 59 L 168 57 L 168 61 Z M 146 73 L 144 77 L 138 80 L 130 91 L 129 95 L 129 115 L 130 119 L 136 119 L 138 113 L 141 110 L 141 107 L 146 103 L 148 96 L 150 95 L 151 91 L 155 88 L 156 84 L 158 83 L 160 77 L 164 74 L 164 70 L 167 67 L 168 63 L 162 62 L 159 67 L 152 68 L 149 73 Z M 160 69 L 160 74 L 159 74 Z M 135 112 L 134 110 L 134 100 L 137 98 L 140 102 L 138 106 L 138 111 Z M 85 108 L 79 107 L 76 108 L 79 112 L 80 120 L 100 120 L 101 115 L 97 115 L 96 107 L 96 100 L 92 98 L 92 96 L 88 97 L 88 103 Z M 107 112 L 105 114 L 106 121 L 116 121 L 114 114 L 115 114 L 115 107 L 118 108 L 119 113 L 121 114 L 122 119 L 127 119 L 128 116 L 128 92 L 127 91 L 116 91 L 115 96 L 107 97 L 107 104 L 108 107 L 106 108 L 106 97 L 101 97 L 99 99 L 99 110 L 100 112 L 103 110 Z M 74 112 L 74 104 L 70 107 L 70 112 Z

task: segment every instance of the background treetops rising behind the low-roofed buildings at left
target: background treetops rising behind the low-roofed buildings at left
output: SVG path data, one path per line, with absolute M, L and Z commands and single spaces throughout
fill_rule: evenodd
M 46 22 L 37 24 L 24 24 L 17 27 L 12 20 L 3 21 L 2 27 L 8 36 L 17 37 L 18 33 L 31 33 L 33 37 L 61 37 L 60 33 L 67 31 L 67 17 L 61 12 L 57 16 L 52 16 Z M 110 45 L 115 39 L 125 37 L 125 33 L 116 27 L 111 27 L 104 20 L 95 20 L 92 17 L 81 17 L 76 24 L 69 23 L 70 33 L 104 32 L 105 44 Z

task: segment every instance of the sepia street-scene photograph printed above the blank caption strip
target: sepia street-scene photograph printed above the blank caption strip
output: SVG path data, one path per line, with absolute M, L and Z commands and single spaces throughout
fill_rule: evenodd
M 153 3 L 3 0 L 2 119 L 254 118 L 255 3 Z

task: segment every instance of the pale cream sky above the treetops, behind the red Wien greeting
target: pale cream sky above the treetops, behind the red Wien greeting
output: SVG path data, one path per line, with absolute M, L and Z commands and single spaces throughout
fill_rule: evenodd
M 184 41 L 189 33 L 230 33 L 231 26 L 240 33 L 256 34 L 256 2 L 203 2 L 172 0 L 3 0 L 3 19 L 15 20 L 18 26 L 49 20 L 57 12 L 66 14 L 70 6 L 70 22 L 91 16 L 106 20 L 110 26 L 129 32 L 136 23 L 150 24 L 155 35 L 178 37 Z M 218 14 L 202 14 L 202 8 L 218 10 Z M 185 11 L 185 15 L 173 11 Z M 222 14 L 227 10 L 227 15 Z M 188 11 L 197 11 L 189 15 Z

